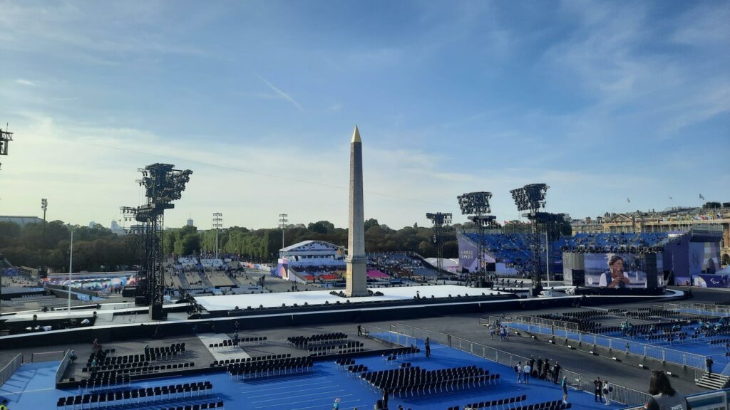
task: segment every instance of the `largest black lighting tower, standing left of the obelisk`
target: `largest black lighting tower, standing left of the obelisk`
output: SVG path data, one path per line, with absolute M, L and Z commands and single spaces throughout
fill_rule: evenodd
M 142 270 L 137 272 L 137 294 L 134 301 L 138 306 L 150 306 L 150 318 L 153 320 L 162 320 L 165 317 L 162 311 L 164 212 L 165 209 L 175 207 L 172 201 L 183 196 L 185 184 L 190 181 L 190 176 L 193 174 L 189 169 L 181 171 L 173 167 L 169 163 L 153 163 L 138 169 L 137 171 L 142 172 L 142 179 L 137 179 L 137 183 L 145 187 L 147 204 L 136 208 L 121 207 L 125 220 L 137 220 L 142 226 L 145 252 L 142 257 Z

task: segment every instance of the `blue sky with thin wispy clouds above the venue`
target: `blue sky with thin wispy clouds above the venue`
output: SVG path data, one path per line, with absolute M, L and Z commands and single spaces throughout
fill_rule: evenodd
M 168 226 L 344 226 L 355 124 L 366 218 L 392 228 L 477 190 L 513 219 L 532 182 L 572 217 L 730 201 L 727 1 L 0 9 L 0 214 L 45 197 L 50 219 L 108 226 L 166 162 L 194 172 Z

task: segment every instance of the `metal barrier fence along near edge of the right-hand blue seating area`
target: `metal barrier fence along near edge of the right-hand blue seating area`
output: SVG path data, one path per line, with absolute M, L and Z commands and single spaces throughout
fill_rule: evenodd
M 626 352 L 633 355 L 641 355 L 644 357 L 650 357 L 656 360 L 662 360 L 680 365 L 685 365 L 691 368 L 700 369 L 704 371 L 705 356 L 695 355 L 694 353 L 682 352 L 675 349 L 667 349 L 666 347 L 659 347 L 653 344 L 645 344 L 639 341 L 633 341 L 629 339 L 618 339 L 611 336 L 599 335 L 596 333 L 583 332 L 580 330 L 568 329 L 568 328 L 545 328 L 541 325 L 533 325 L 529 323 L 520 322 L 515 320 L 514 316 L 507 316 L 503 323 L 510 327 L 510 322 L 519 323 L 523 325 L 523 328 L 512 326 L 518 330 L 526 330 L 531 333 L 550 334 L 552 336 L 558 336 L 565 339 L 578 341 L 580 343 L 592 344 L 597 347 L 604 347 L 607 349 L 615 349 L 620 352 Z

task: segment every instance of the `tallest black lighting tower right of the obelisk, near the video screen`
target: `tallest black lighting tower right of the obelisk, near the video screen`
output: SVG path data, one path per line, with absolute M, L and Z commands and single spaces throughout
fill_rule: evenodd
M 532 231 L 530 234 L 530 250 L 531 250 L 531 266 L 530 274 L 532 277 L 532 293 L 537 295 L 542 291 L 541 265 L 540 265 L 540 236 L 539 226 L 545 223 L 545 212 L 539 212 L 541 208 L 545 208 L 545 195 L 548 193 L 549 186 L 546 184 L 529 184 L 524 187 L 511 190 L 512 199 L 515 200 L 518 211 L 529 211 L 522 214 L 532 223 Z M 547 241 L 545 246 L 547 246 Z M 548 261 L 549 263 L 549 261 Z

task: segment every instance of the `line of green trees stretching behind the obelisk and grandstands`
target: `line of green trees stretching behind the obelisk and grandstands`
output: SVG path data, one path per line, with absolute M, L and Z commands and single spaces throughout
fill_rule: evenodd
M 521 227 L 515 224 L 519 223 L 510 223 L 514 232 L 529 228 L 524 224 Z M 466 223 L 444 228 L 444 258 L 458 258 L 458 228 L 474 227 Z M 140 263 L 144 243 L 142 236 L 118 236 L 99 224 L 89 228 L 68 225 L 60 220 L 46 223 L 45 239 L 42 223 L 21 226 L 0 222 L 0 253 L 15 266 L 47 266 L 54 272 L 67 272 L 71 231 L 74 231 L 73 270 L 76 272 L 126 270 Z M 166 229 L 161 239 L 165 255 L 215 252 L 215 230 L 199 231 L 194 226 L 172 228 Z M 288 225 L 283 240 L 282 243 L 280 228 L 250 230 L 234 226 L 218 232 L 220 253 L 242 255 L 252 261 L 271 262 L 278 257 L 282 245 L 287 247 L 305 240 L 327 241 L 346 248 L 347 229 L 336 228 L 326 220 L 307 225 Z M 413 224 L 396 230 L 381 225 L 375 219 L 365 221 L 365 249 L 367 252 L 418 252 L 424 258 L 437 256 L 431 227 Z

